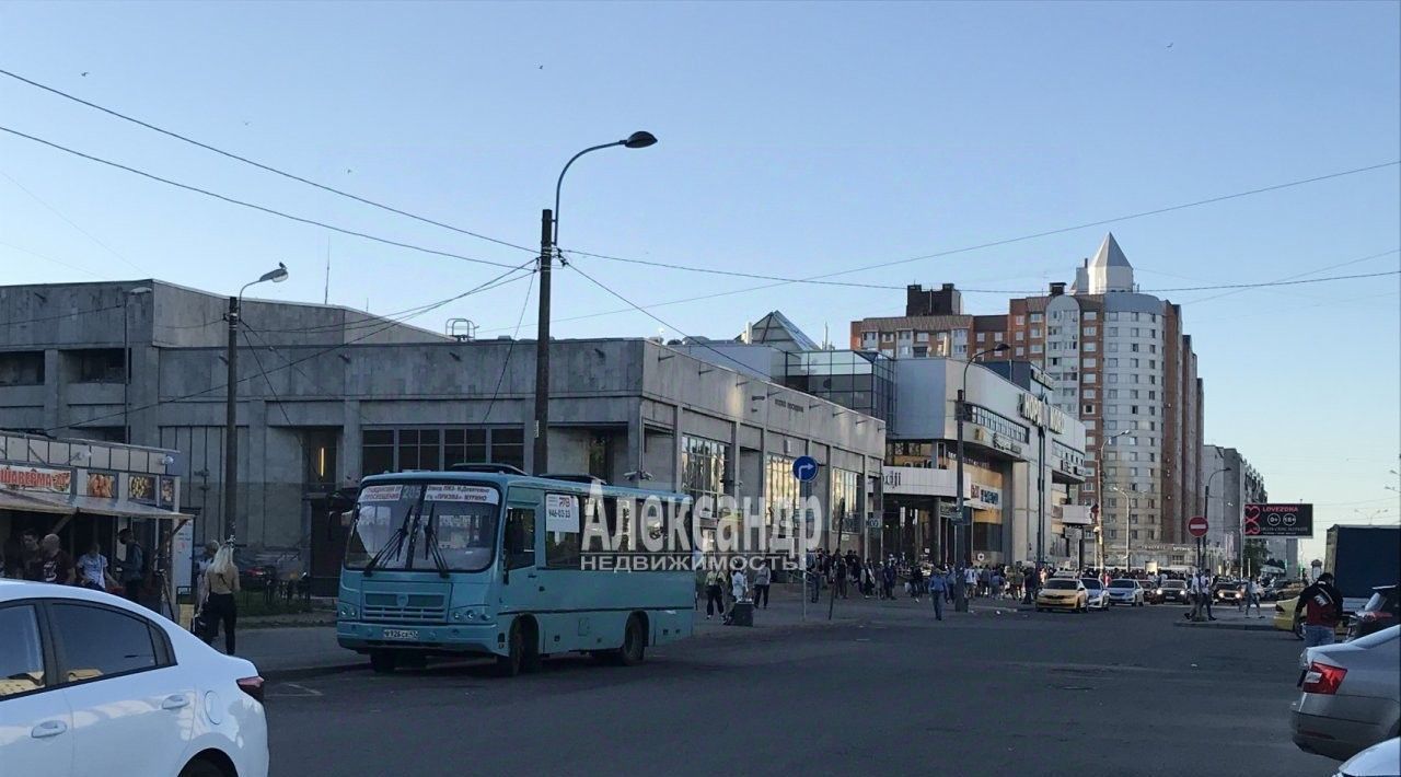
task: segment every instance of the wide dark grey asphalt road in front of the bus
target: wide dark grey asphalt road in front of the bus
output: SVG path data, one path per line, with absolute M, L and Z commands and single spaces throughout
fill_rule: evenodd
M 887 606 L 698 637 L 636 668 L 283 682 L 273 774 L 1331 774 L 1289 741 L 1299 643 L 1173 627 L 1181 612 L 936 623 Z

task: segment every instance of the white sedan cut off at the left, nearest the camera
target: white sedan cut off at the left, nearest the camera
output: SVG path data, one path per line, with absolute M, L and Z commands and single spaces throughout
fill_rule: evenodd
M 151 610 L 0 580 L 0 771 L 266 777 L 263 680 Z

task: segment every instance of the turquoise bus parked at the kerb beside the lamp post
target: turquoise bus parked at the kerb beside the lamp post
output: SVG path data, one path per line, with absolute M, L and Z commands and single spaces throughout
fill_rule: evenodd
M 639 664 L 692 633 L 695 573 L 644 547 L 688 514 L 682 494 L 504 465 L 366 477 L 347 512 L 336 640 L 375 672 L 429 655 L 492 655 L 507 676 L 574 651 Z M 614 553 L 591 553 L 590 531 Z

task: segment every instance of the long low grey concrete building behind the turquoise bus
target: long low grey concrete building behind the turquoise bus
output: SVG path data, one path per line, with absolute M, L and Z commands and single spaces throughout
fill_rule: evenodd
M 226 307 L 154 280 L 0 288 L 0 428 L 119 440 L 129 426 L 129 440 L 179 451 L 196 540 L 212 536 L 224 519 Z M 329 580 L 345 542 L 335 489 L 469 461 L 534 470 L 532 342 L 296 302 L 248 300 L 242 318 L 241 542 L 296 552 Z M 559 340 L 551 360 L 553 472 L 780 503 L 797 496 L 792 459 L 810 454 L 828 473 L 813 496 L 855 524 L 878 514 L 880 419 L 643 339 Z

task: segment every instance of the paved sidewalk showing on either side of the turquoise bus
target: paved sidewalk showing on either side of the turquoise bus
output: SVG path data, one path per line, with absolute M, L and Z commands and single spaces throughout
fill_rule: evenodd
M 773 629 L 811 629 L 828 623 L 869 622 L 881 617 L 883 613 L 905 615 L 916 610 L 933 617 L 930 612 L 933 606 L 927 596 L 915 602 L 899 594 L 899 598 L 894 601 L 881 601 L 874 596 L 866 599 L 852 591 L 849 598 L 835 601 L 832 620 L 828 620 L 828 595 L 829 589 L 824 588 L 821 601 L 807 605 L 807 619 L 804 620 L 799 587 L 796 584 L 775 585 L 771 589 L 768 609 L 755 610 L 752 629 L 726 626 L 720 616 L 706 620 L 705 601 L 702 599 L 695 616 L 695 637 L 703 640 L 745 638 Z M 955 620 L 976 617 L 979 613 L 995 610 L 1009 613 L 1017 609 L 1017 602 L 1012 599 L 972 599 L 971 612 L 955 613 L 953 605 L 948 605 L 944 608 L 944 617 Z M 238 623 L 238 657 L 256 664 L 258 671 L 265 678 L 280 680 L 367 668 L 368 659 L 366 657 L 336 644 L 333 615 L 312 612 L 242 619 Z M 214 645 L 223 647 L 223 641 L 216 638 Z

